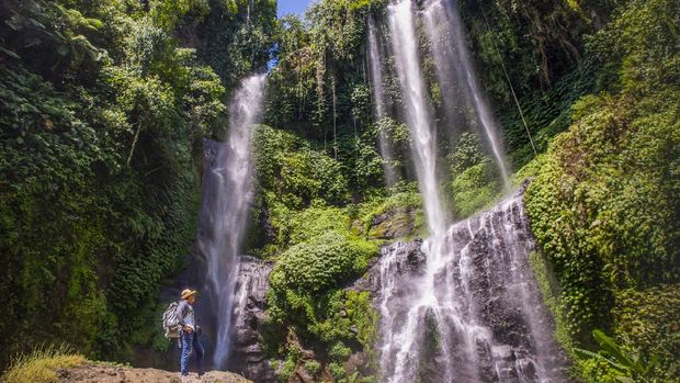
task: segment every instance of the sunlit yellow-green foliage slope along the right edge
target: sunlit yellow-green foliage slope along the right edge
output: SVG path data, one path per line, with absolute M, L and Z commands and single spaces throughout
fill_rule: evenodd
M 677 319 L 643 302 L 654 295 L 672 305 L 680 279 L 680 125 L 671 101 L 680 98 L 680 55 L 670 14 L 679 14 L 677 2 L 631 1 L 589 38 L 608 91 L 574 104 L 569 131 L 553 140 L 525 195 L 577 345 L 591 346 L 596 328 L 613 331 L 625 356 L 660 357 L 651 372 L 615 362 L 659 382 L 678 376 L 678 339 L 669 336 Z M 589 381 L 621 375 L 602 360 L 579 367 Z

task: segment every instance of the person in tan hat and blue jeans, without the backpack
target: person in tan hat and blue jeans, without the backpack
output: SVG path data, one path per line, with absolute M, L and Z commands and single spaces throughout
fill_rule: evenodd
M 196 291 L 191 289 L 184 289 L 181 294 L 181 301 L 177 306 L 177 317 L 179 319 L 180 341 L 182 346 L 182 356 L 180 359 L 180 371 L 182 376 L 189 376 L 189 359 L 192 353 L 196 354 L 196 364 L 199 365 L 199 376 L 202 376 L 203 371 L 203 346 L 199 340 L 201 328 L 196 326 L 196 314 L 193 307 L 196 302 Z

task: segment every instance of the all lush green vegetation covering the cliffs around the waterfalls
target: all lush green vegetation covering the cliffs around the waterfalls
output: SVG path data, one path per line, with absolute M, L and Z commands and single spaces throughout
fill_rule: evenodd
M 276 262 L 263 346 L 282 381 L 374 380 L 376 313 L 350 286 L 382 244 L 427 235 L 390 60 L 389 116 L 373 112 L 366 18 L 381 25 L 386 4 L 321 0 L 276 20 L 271 0 L 3 1 L 0 365 L 44 341 L 115 361 L 168 347 L 157 297 L 192 252 L 201 138 L 224 137 L 228 95 L 273 58 L 246 244 Z M 600 329 L 639 365 L 658 358 L 647 381 L 677 380 L 678 2 L 458 4 L 513 180 L 533 178 L 532 264 L 574 379 L 641 379 Z M 438 124 L 442 190 L 464 218 L 502 184 L 476 133 Z M 389 190 L 379 131 L 400 178 Z

